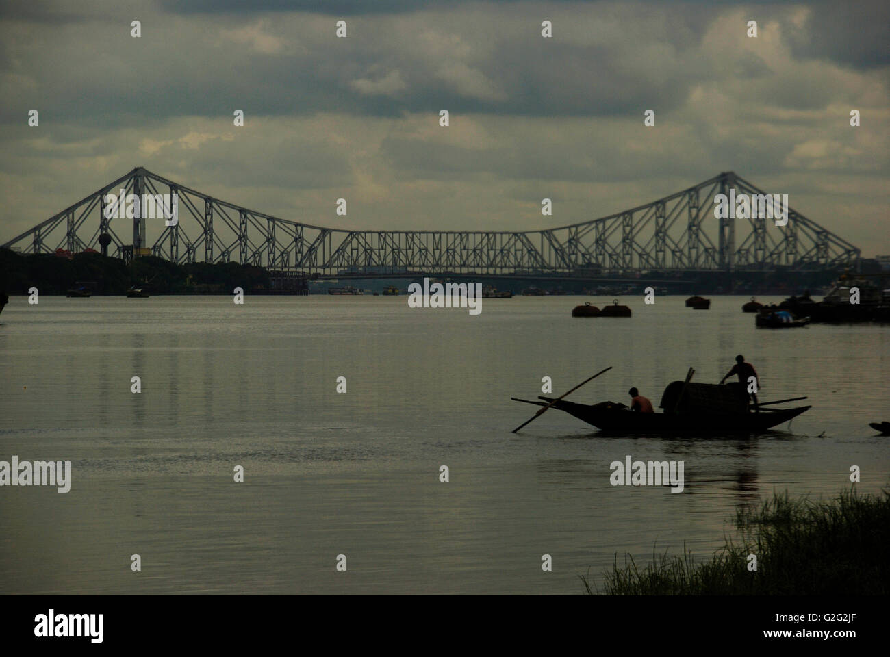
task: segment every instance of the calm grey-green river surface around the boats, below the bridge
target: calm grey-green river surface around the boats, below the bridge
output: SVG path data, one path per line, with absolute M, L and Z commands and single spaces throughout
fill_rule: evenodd
M 890 328 L 756 330 L 741 296 L 571 318 L 586 299 L 611 301 L 470 316 L 406 296 L 12 297 L 0 460 L 70 460 L 72 483 L 0 488 L 0 593 L 577 594 L 616 553 L 709 556 L 735 507 L 773 491 L 833 495 L 853 465 L 862 492 L 890 483 L 890 438 L 868 426 L 890 420 Z M 535 410 L 510 397 L 542 377 L 559 395 L 611 365 L 569 399 L 627 403 L 636 385 L 657 405 L 736 353 L 761 401 L 813 409 L 742 440 L 597 437 L 557 410 L 510 433 Z M 612 487 L 627 455 L 683 460 L 684 492 Z

